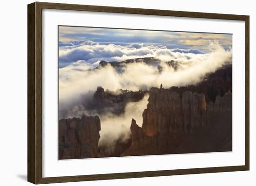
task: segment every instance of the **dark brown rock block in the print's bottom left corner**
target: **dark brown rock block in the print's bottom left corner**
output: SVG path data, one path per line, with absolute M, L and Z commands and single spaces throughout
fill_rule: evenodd
M 96 158 L 101 122 L 96 116 L 59 121 L 59 159 Z

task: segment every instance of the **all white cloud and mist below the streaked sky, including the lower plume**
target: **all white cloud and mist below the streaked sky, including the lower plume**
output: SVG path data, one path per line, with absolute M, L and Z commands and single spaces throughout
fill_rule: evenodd
M 75 62 L 59 69 L 59 106 L 60 109 L 69 108 L 68 117 L 71 118 L 81 117 L 83 114 L 99 115 L 97 112 L 89 113 L 79 104 L 81 99 L 84 99 L 84 95 L 88 99 L 93 99 L 92 95 L 88 95 L 88 91 L 94 92 L 98 86 L 113 91 L 118 89 L 149 90 L 151 87 L 159 87 L 161 83 L 165 88 L 186 86 L 199 83 L 207 73 L 215 72 L 223 65 L 232 63 L 232 49 L 225 50 L 217 41 L 209 41 L 208 52 L 195 49 L 167 49 L 163 45 L 143 46 L 137 43 L 121 46 L 85 42 L 64 46 L 64 48 L 60 48 L 63 50 L 60 52 L 60 60 L 74 60 Z M 91 53 L 89 56 L 88 52 Z M 144 57 L 157 58 L 162 71 L 159 71 L 157 66 L 145 63 L 125 64 L 122 66 L 121 73 L 109 64 L 94 69 L 99 65 L 100 60 L 123 61 Z M 178 63 L 176 69 L 165 63 L 170 60 Z M 111 147 L 121 134 L 128 138 L 131 118 L 135 118 L 137 124 L 141 126 L 141 113 L 147 108 L 147 103 L 148 95 L 139 102 L 128 103 L 122 115 L 113 115 L 109 112 L 100 115 L 100 146 Z

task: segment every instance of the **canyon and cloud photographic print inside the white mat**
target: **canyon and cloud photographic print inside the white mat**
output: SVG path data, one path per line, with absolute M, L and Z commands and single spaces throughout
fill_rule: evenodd
M 232 34 L 58 34 L 59 160 L 232 151 Z

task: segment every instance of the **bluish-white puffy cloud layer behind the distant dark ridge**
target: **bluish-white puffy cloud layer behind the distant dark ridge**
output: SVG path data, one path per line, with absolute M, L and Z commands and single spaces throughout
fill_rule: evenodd
M 59 43 L 59 67 L 83 61 L 97 65 L 97 61 L 124 61 L 132 58 L 170 56 L 179 57 L 181 53 L 205 53 L 199 49 L 168 49 L 165 45 L 143 45 L 133 43 L 129 45 L 102 45 L 93 41 L 71 41 Z M 187 55 L 188 56 L 188 55 Z M 183 57 L 185 57 L 183 55 Z

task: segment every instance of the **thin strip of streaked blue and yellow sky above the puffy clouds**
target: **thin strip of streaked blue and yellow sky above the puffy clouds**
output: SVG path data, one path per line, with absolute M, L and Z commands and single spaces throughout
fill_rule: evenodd
M 198 32 L 168 32 L 129 30 L 112 28 L 92 27 L 59 27 L 59 41 L 69 42 L 72 40 L 91 40 L 100 44 L 144 43 L 148 45 L 165 45 L 173 48 L 203 48 L 210 40 L 218 40 L 220 45 L 225 47 L 232 45 L 231 34 L 212 34 Z

